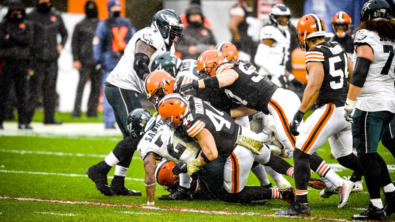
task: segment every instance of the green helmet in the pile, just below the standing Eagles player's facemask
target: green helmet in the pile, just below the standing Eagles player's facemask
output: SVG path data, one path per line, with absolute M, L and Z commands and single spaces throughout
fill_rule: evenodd
M 180 66 L 181 59 L 170 52 L 166 52 L 156 56 L 151 64 L 151 72 L 155 70 L 164 70 L 175 78 Z

